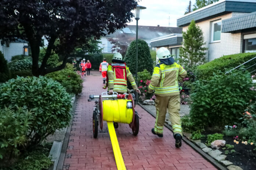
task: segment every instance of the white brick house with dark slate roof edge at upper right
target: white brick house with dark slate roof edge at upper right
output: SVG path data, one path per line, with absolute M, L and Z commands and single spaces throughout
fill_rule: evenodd
M 256 50 L 256 0 L 220 0 L 177 19 L 186 31 L 195 20 L 202 29 L 206 59 Z

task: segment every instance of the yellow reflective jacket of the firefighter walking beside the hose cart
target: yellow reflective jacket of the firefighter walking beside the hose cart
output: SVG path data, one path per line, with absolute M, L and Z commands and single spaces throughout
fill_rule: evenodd
M 164 59 L 167 61 L 167 59 Z M 149 84 L 148 92 L 155 90 L 155 95 L 166 97 L 179 95 L 178 78 L 185 78 L 186 70 L 179 64 L 168 62 L 160 63 L 154 67 L 154 73 Z

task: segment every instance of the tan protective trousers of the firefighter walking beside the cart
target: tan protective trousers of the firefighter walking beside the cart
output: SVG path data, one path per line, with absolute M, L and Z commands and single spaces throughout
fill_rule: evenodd
M 174 135 L 180 134 L 182 136 L 181 118 L 179 116 L 180 101 L 181 100 L 179 95 L 167 97 L 156 95 L 156 123 L 154 126 L 155 133 L 163 134 L 166 111 L 168 109 L 169 121 L 171 121 Z

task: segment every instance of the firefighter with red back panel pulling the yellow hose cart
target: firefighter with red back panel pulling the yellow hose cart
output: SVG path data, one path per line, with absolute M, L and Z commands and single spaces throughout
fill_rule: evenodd
M 126 63 L 122 60 L 122 55 L 117 52 L 112 58 L 112 64 L 107 68 L 107 84 L 103 88 L 108 87 L 109 94 L 117 92 L 118 94 L 127 93 L 127 79 L 132 85 L 132 88 L 141 94 L 141 91 L 138 89 L 132 73 L 129 70 L 129 67 L 126 66 Z M 118 123 L 114 122 L 114 127 L 118 127 Z

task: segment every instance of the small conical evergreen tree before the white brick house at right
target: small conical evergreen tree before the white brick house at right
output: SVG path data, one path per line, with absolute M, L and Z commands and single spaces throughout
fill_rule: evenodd
M 207 48 L 202 47 L 205 45 L 203 40 L 203 32 L 196 26 L 194 20 L 191 21 L 188 30 L 182 32 L 183 42 L 180 48 L 179 61 L 186 67 L 193 67 L 198 64 L 202 64 L 205 59 L 205 50 Z

